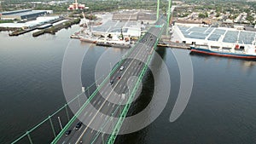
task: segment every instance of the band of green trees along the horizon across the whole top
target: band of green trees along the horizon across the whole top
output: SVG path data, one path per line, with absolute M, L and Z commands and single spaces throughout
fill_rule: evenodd
M 73 11 L 68 11 L 67 8 L 73 2 L 59 3 L 50 5 L 48 2 L 51 0 L 4 0 L 2 2 L 2 10 L 15 10 L 15 9 L 52 9 L 55 14 L 73 14 Z M 61 0 L 60 0 L 61 1 Z M 31 2 L 45 2 L 45 3 L 31 3 Z M 241 13 L 246 13 L 246 20 L 253 23 L 256 13 L 256 2 L 247 2 L 241 0 L 183 0 L 182 7 L 177 7 L 175 13 L 176 17 L 188 17 L 193 12 L 198 13 L 198 18 L 204 19 L 212 16 L 224 16 L 225 19 L 235 20 Z M 156 10 L 156 0 L 79 0 L 79 3 L 84 3 L 89 9 L 84 9 L 86 18 L 96 19 L 91 16 L 93 12 L 111 12 L 119 9 L 148 9 Z M 177 3 L 173 2 L 172 5 Z M 160 13 L 166 13 L 167 1 L 160 1 Z M 81 10 L 77 11 L 81 14 Z M 209 13 L 207 13 L 209 12 Z M 246 15 L 243 14 L 243 15 Z M 196 19 L 194 17 L 193 19 Z M 243 19 L 244 20 L 244 19 Z

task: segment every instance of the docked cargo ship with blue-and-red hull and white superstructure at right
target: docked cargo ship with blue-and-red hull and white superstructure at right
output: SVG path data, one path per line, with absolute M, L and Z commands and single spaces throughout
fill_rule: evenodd
M 191 52 L 201 53 L 206 55 L 217 55 L 241 59 L 254 59 L 256 60 L 255 44 L 235 44 L 234 47 L 213 47 L 210 45 L 196 46 L 190 45 Z

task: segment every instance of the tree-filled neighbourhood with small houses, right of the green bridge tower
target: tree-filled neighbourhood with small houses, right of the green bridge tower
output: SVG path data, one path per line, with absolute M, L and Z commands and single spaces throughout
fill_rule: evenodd
M 224 21 L 230 19 L 245 24 L 247 24 L 247 21 L 248 24 L 253 24 L 255 21 L 256 1 L 186 0 L 182 2 L 183 5 L 176 8 L 173 14 L 174 17 L 188 17 L 187 20 L 219 17 L 220 19 L 214 18 L 212 20 Z

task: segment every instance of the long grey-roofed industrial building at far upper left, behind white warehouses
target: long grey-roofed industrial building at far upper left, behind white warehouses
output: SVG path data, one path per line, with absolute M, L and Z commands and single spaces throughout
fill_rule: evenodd
M 22 9 L 15 11 L 3 12 L 0 14 L 1 20 L 33 20 L 38 16 L 52 13 L 52 10 L 33 10 Z

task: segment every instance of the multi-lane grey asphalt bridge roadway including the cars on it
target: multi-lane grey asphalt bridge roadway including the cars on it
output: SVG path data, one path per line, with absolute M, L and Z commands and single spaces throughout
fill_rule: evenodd
M 132 102 L 131 92 L 137 87 L 138 77 L 148 65 L 165 28 L 163 21 L 166 20 L 160 19 L 149 28 L 126 58 L 113 68 L 110 77 L 106 78 L 107 83 L 98 87 L 96 95 L 90 95 L 90 105 L 93 107 L 81 107 L 77 118 L 72 124 L 67 124 L 52 143 L 109 143 L 111 138 L 114 141 L 116 133 L 112 132 L 119 130 L 116 127 L 119 121 L 113 118 L 119 118 L 123 111 L 129 109 L 126 106 Z

